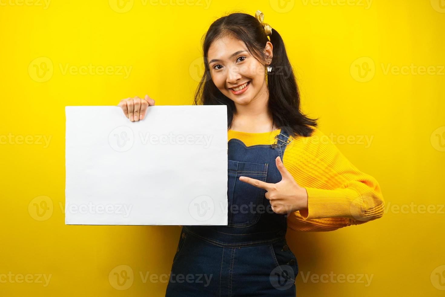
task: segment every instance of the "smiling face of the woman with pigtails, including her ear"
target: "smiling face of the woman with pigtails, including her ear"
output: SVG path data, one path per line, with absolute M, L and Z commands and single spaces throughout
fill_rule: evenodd
M 265 53 L 271 60 L 270 41 Z M 219 38 L 212 42 L 207 56 L 212 81 L 235 104 L 247 105 L 268 95 L 265 66 L 251 55 L 243 41 L 231 36 Z

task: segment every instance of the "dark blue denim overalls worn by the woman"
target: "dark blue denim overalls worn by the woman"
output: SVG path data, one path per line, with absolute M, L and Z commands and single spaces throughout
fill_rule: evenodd
M 183 226 L 166 296 L 295 296 L 298 264 L 287 246 L 287 215 L 271 210 L 266 190 L 240 176 L 278 183 L 275 158 L 290 142 L 228 142 L 228 225 Z M 273 147 L 275 146 L 275 147 Z

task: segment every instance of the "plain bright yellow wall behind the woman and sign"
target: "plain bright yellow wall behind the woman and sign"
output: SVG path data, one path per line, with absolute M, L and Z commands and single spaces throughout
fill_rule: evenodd
M 1 296 L 163 296 L 166 282 L 141 273 L 170 272 L 179 226 L 65 225 L 65 106 L 145 94 L 157 105 L 191 104 L 208 26 L 257 9 L 286 43 L 303 110 L 321 117 L 325 134 L 353 139 L 336 145 L 379 181 L 386 203 L 364 225 L 287 233 L 297 293 L 445 294 L 443 0 L 29 1 L 0 0 L 0 135 L 28 136 L 0 145 L 0 275 L 35 281 L 0 282 Z M 76 72 L 89 64 L 111 73 Z M 47 203 L 43 217 L 34 203 Z M 120 287 L 113 275 L 122 269 L 129 279 Z M 51 275 L 47 286 L 38 274 Z M 341 283 L 342 274 L 356 281 Z

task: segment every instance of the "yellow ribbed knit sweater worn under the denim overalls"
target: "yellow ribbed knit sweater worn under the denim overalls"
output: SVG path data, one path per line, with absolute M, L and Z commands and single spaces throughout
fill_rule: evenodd
M 376 179 L 359 171 L 320 129 L 310 137 L 292 138 L 283 164 L 296 183 L 307 190 L 307 211 L 292 212 L 287 225 L 295 231 L 332 231 L 383 216 L 384 200 Z M 265 133 L 228 130 L 227 141 L 246 146 L 272 144 L 279 129 Z M 275 164 L 274 164 L 275 166 Z

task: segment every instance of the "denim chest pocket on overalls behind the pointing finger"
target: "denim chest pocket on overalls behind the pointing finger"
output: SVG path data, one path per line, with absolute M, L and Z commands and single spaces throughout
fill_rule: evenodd
M 247 176 L 263 182 L 267 179 L 267 163 L 249 163 L 228 160 L 227 198 L 228 226 L 249 227 L 258 222 L 265 212 L 264 194 L 266 190 L 239 180 Z

